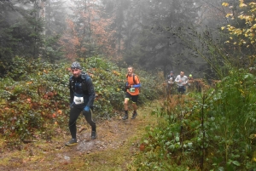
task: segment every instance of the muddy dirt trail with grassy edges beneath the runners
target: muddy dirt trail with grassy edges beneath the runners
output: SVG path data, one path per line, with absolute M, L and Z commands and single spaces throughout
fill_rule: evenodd
M 78 145 L 65 146 L 68 130 L 56 128 L 50 140 L 22 144 L 18 150 L 0 151 L 0 170 L 127 170 L 127 165 L 141 152 L 141 138 L 156 117 L 150 113 L 155 103 L 138 109 L 136 119 L 123 121 L 121 116 L 97 122 L 97 139 L 90 140 L 90 128 L 79 117 Z M 85 125 L 85 127 L 84 127 Z

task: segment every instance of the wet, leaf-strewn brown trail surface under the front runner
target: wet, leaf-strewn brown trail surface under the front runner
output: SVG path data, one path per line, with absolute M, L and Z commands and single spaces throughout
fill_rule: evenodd
M 123 121 L 121 117 L 116 117 L 97 123 L 96 140 L 90 139 L 89 125 L 83 121 L 85 127 L 78 124 L 78 145 L 65 146 L 65 143 L 70 140 L 70 134 L 68 130 L 59 129 L 57 136 L 49 142 L 42 140 L 24 144 L 20 150 L 3 151 L 0 153 L 0 160 L 6 162 L 0 164 L 0 170 L 84 170 L 72 169 L 67 165 L 79 162 L 78 160 L 86 162 L 86 158 L 88 156 L 93 157 L 94 154 L 106 156 L 103 159 L 98 159 L 98 161 L 93 161 L 96 164 L 104 164 L 108 160 L 113 160 L 113 158 L 108 158 L 108 154 L 101 154 L 103 151 L 121 151 L 122 148 L 129 148 L 129 151 L 134 153 L 139 151 L 139 137 L 142 136 L 142 131 L 145 132 L 144 129 L 148 124 L 155 123 L 154 119 L 149 117 L 150 111 L 151 107 L 146 107 L 138 110 L 139 115 L 136 119 L 131 119 L 129 116 L 129 119 Z M 137 136 L 137 139 L 133 140 L 133 143 L 127 147 L 127 142 L 134 136 Z M 124 168 L 121 170 L 125 170 L 125 163 L 119 163 L 119 165 L 120 168 Z

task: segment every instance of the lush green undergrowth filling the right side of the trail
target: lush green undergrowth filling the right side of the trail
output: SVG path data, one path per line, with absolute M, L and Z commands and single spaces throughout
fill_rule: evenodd
M 253 74 L 230 69 L 215 88 L 166 98 L 131 170 L 255 170 L 254 90 Z

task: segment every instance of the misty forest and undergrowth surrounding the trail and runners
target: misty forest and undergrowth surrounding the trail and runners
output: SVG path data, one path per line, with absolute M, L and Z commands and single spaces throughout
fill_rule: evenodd
M 171 70 L 202 89 L 153 111 L 130 168 L 255 170 L 255 14 L 250 0 L 1 0 L 0 145 L 66 128 L 74 60 L 93 78 L 96 119 L 118 116 L 131 65 L 140 105 L 166 94 Z

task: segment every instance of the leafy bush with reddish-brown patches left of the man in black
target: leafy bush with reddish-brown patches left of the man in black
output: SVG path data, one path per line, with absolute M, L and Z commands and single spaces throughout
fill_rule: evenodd
M 69 76 L 65 66 L 40 59 L 27 62 L 16 57 L 13 64 L 12 72 L 1 78 L 0 131 L 26 139 L 35 129 L 44 131 L 45 123 L 55 123 L 56 116 L 62 117 L 67 109 Z

